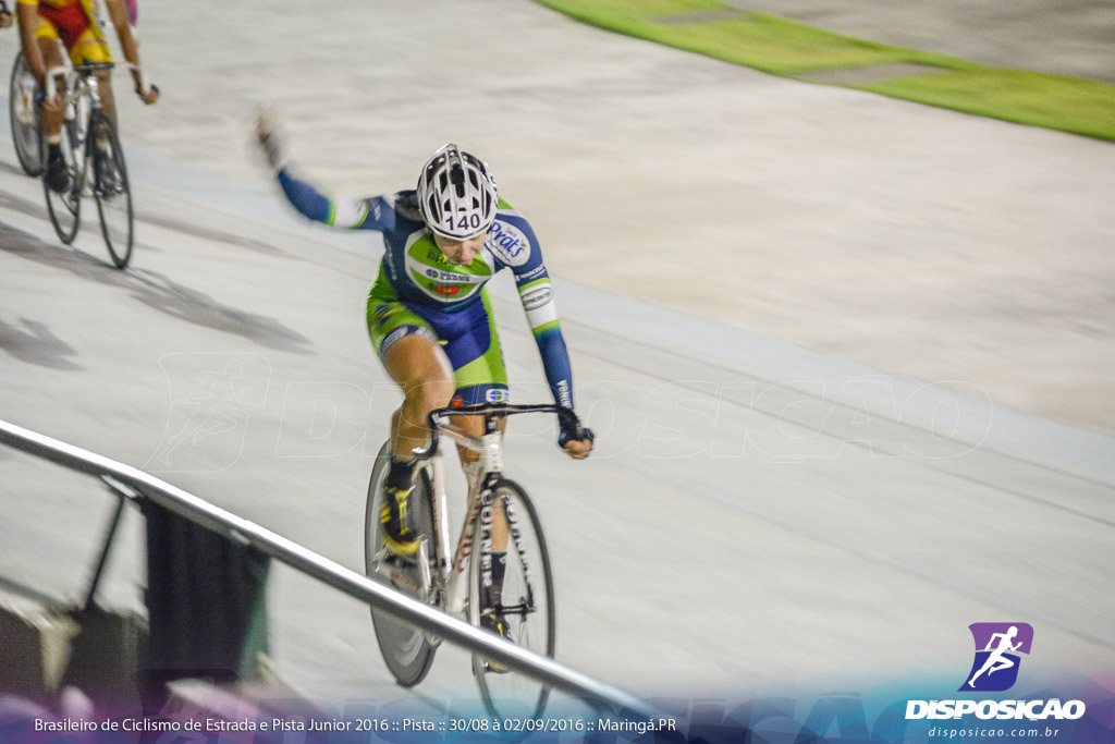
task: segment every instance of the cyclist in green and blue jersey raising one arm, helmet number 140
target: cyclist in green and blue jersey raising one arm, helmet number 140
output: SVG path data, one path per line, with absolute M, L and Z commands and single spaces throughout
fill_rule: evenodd
M 265 117 L 256 134 L 283 193 L 299 212 L 327 225 L 374 230 L 384 238 L 386 252 L 368 294 L 368 330 L 404 400 L 391 418 L 392 462 L 381 521 L 389 549 L 411 555 L 418 540 L 407 521 L 415 470 L 410 453 L 428 439 L 427 414 L 447 405 L 508 399 L 507 371 L 485 288 L 496 272 L 510 269 L 514 274 L 554 400 L 573 408 L 569 354 L 537 238 L 530 222 L 498 196 L 487 165 L 456 145 L 434 153 L 414 190 L 330 199 L 291 173 Z M 483 434 L 477 417 L 462 416 L 455 423 Z M 592 432 L 562 431 L 559 445 L 570 456 L 584 458 L 592 451 Z M 466 465 L 474 458 L 468 451 L 460 453 Z M 497 563 L 498 552 L 506 549 L 501 522 L 497 519 L 493 530 Z M 497 581 L 500 568 L 493 567 Z

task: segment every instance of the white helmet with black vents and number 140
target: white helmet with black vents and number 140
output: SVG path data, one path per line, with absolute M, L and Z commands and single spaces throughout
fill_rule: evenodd
M 468 240 L 495 221 L 500 202 L 495 178 L 484 161 L 453 143 L 423 166 L 417 191 L 426 225 L 443 238 Z

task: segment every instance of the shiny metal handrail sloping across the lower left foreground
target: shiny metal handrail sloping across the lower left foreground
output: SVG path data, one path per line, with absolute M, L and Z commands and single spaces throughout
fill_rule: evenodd
M 110 476 L 132 487 L 143 497 L 191 522 L 231 540 L 251 544 L 271 558 L 349 597 L 414 622 L 423 630 L 474 653 L 483 653 L 540 683 L 590 703 L 613 707 L 617 713 L 627 716 L 650 718 L 653 715 L 652 708 L 615 687 L 597 682 L 551 658 L 539 656 L 445 615 L 130 465 L 124 465 L 2 419 L 0 419 L 0 443 L 79 473 L 95 477 Z

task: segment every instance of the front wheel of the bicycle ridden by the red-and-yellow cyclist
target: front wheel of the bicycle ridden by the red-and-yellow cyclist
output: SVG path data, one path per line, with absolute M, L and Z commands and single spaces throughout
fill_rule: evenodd
M 100 234 L 117 269 L 132 260 L 134 214 L 128 170 L 116 125 L 105 115 L 97 115 L 89 127 L 89 149 L 93 153 L 93 194 L 100 215 Z

